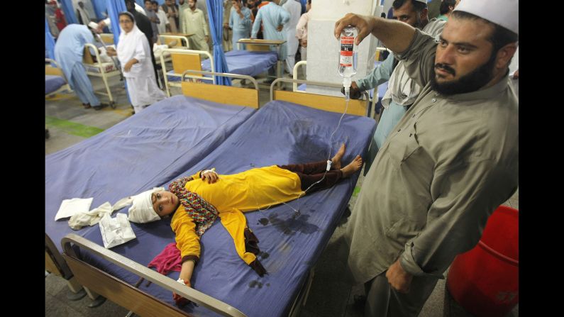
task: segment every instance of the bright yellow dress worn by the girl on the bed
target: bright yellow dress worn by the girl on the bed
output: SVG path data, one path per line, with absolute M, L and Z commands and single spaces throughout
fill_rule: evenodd
M 250 265 L 256 256 L 245 250 L 244 230 L 247 221 L 243 212 L 292 201 L 304 195 L 301 182 L 296 173 L 276 165 L 249 169 L 232 175 L 219 175 L 214 184 L 199 178 L 199 172 L 192 175 L 193 180 L 184 188 L 199 194 L 209 204 L 216 207 L 221 224 L 233 238 L 238 255 Z M 182 205 L 177 208 L 172 221 L 176 234 L 177 248 L 182 259 L 200 255 L 199 236 L 196 224 Z

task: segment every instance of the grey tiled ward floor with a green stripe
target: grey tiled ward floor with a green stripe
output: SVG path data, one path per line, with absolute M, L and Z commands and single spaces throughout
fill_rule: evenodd
M 92 79 L 92 82 L 95 89 L 103 89 L 101 80 Z M 96 131 L 114 126 L 131 116 L 131 107 L 126 99 L 123 83 L 119 82 L 116 77 L 111 79 L 110 83 L 116 100 L 116 109 L 106 108 L 101 111 L 83 109 L 79 99 L 68 94 L 60 94 L 45 101 L 45 126 L 50 130 L 50 138 L 45 140 L 46 155 L 78 143 L 94 135 Z M 179 94 L 179 91 L 173 91 L 173 94 Z M 260 91 L 260 104 L 265 104 L 269 98 L 267 91 Z M 101 96 L 101 101 L 107 101 L 106 97 Z M 351 210 L 363 180 L 361 176 L 357 184 L 358 189 L 350 199 Z M 519 191 L 506 204 L 519 208 Z M 339 262 L 335 260 L 339 256 L 338 240 L 343 236 L 347 216 L 343 217 L 341 225 L 336 228 L 326 250 L 321 254 L 306 304 L 299 311 L 298 316 L 300 317 L 363 316 L 362 305 L 355 303 L 355 298 L 363 295 L 363 287 L 350 287 L 343 282 L 341 275 L 338 274 L 341 272 Z M 113 317 L 126 316 L 128 313 L 125 308 L 111 301 L 106 301 L 96 308 L 89 308 L 88 305 L 92 303 L 92 300 L 87 296 L 78 301 L 70 301 L 67 299 L 67 296 L 70 295 L 72 292 L 60 277 L 48 274 L 45 277 L 45 316 Z M 445 281 L 440 280 L 420 316 L 465 317 L 472 315 L 465 312 L 450 298 L 445 289 Z M 516 306 L 508 316 L 519 316 L 519 306 Z

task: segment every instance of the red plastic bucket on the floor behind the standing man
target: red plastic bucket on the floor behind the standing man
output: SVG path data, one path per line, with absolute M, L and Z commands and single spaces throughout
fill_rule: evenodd
M 453 299 L 476 316 L 506 316 L 519 303 L 519 211 L 499 206 L 480 242 L 455 257 L 446 281 Z

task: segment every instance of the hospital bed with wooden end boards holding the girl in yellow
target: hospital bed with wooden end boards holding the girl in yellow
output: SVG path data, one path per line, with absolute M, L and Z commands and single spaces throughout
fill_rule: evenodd
M 182 82 L 183 87 L 188 84 L 216 89 L 216 95 L 225 95 L 221 89 L 233 89 Z M 273 91 L 271 96 L 272 101 L 241 123 L 213 152 L 170 181 L 210 167 L 220 174 L 233 174 L 252 167 L 326 160 L 330 135 L 345 109 L 344 99 L 292 91 Z M 375 121 L 363 116 L 366 111 L 366 101 L 350 101 L 348 113 L 356 115 L 345 115 L 336 130 L 331 154 L 346 143 L 343 162 L 367 150 Z M 260 240 L 259 260 L 268 272 L 264 277 L 240 260 L 219 221 L 201 236 L 194 289 L 175 282 L 178 272 L 165 277 L 146 267 L 165 245 L 175 241 L 170 218 L 131 223 L 137 238 L 111 250 L 100 246 L 99 232 L 67 235 L 62 240 L 64 257 L 81 284 L 139 316 L 295 316 L 305 299 L 309 272 L 347 207 L 358 174 L 331 189 L 289 202 L 299 215 L 285 204 L 245 213 L 248 226 Z M 126 213 L 126 208 L 118 212 Z M 178 308 L 171 291 L 198 306 Z

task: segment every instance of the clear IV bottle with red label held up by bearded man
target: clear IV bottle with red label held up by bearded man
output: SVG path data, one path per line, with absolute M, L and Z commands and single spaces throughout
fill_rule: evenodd
M 345 87 L 345 95 L 349 96 L 350 77 L 356 74 L 358 48 L 355 45 L 355 38 L 358 30 L 354 26 L 347 26 L 341 31 L 341 48 L 339 50 L 339 67 L 338 72 L 343 77 L 343 86 Z

